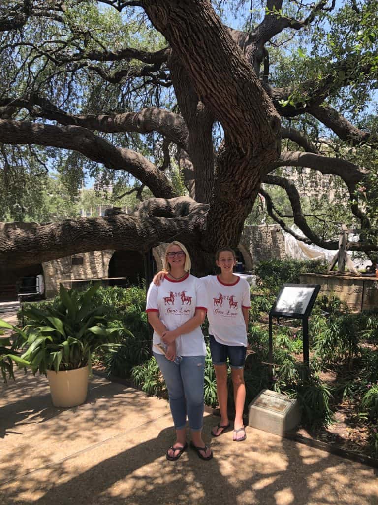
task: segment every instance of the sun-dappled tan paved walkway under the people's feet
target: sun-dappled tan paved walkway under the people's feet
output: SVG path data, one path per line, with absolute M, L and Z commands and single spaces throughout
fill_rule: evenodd
M 207 435 L 217 421 L 206 415 Z M 378 504 L 376 470 L 246 432 L 245 442 L 232 432 L 213 439 L 210 462 L 193 450 L 169 462 L 165 400 L 94 377 L 84 405 L 55 409 L 47 380 L 18 372 L 0 386 L 0 503 Z

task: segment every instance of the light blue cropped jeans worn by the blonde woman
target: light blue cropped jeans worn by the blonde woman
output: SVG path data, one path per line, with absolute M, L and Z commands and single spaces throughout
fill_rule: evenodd
M 163 374 L 169 393 L 169 406 L 174 428 L 181 430 L 186 424 L 193 431 L 202 429 L 204 416 L 205 356 L 183 356 L 175 365 L 162 354 L 153 353 Z

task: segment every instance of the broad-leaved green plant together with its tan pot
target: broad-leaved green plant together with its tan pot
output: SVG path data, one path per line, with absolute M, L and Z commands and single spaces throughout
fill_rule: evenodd
M 75 407 L 87 396 L 91 354 L 99 347 L 115 347 L 120 328 L 107 328 L 104 307 L 93 308 L 92 298 L 99 283 L 85 293 L 67 291 L 60 284 L 57 302 L 24 310 L 27 325 L 20 329 L 0 319 L 0 328 L 12 328 L 17 335 L 7 354 L 21 367 L 47 375 L 55 407 Z M 123 331 L 127 331 L 124 330 Z M 130 332 L 129 332 L 130 333 Z M 4 359 L 4 357 L 3 357 Z

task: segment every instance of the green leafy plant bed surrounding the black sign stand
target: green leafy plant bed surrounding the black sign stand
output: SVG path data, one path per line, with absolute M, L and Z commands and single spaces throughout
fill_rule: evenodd
M 279 287 L 298 282 L 301 272 L 324 269 L 292 260 L 258 267 L 258 286 L 251 289 L 247 395 L 267 376 L 267 310 Z M 274 326 L 274 389 L 298 398 L 302 424 L 313 436 L 378 457 L 378 310 L 351 314 L 337 296 L 319 295 L 309 319 L 309 374 L 302 365 L 299 321 L 281 323 Z

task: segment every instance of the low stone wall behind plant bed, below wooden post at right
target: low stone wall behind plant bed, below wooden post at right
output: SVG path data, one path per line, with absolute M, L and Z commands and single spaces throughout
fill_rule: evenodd
M 378 307 L 378 279 L 364 276 L 302 274 L 300 282 L 320 284 L 320 294 L 335 294 L 352 312 Z

